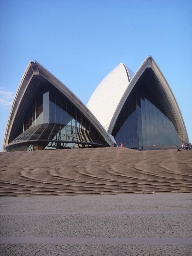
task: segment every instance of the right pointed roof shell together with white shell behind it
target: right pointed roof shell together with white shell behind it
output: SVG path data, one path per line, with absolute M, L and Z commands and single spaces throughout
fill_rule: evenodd
M 104 128 L 109 133 L 113 131 L 117 117 L 130 92 L 144 71 L 150 68 L 155 74 L 156 85 L 161 89 L 164 97 L 166 97 L 166 104 L 169 104 L 172 107 L 172 116 L 175 120 L 175 126 L 179 127 L 183 139 L 188 142 L 187 130 L 177 101 L 153 58 L 151 56 L 147 57 L 130 81 L 125 72 L 128 69 L 126 68 L 126 70 L 124 70 L 123 67 L 126 66 L 124 64 L 119 64 L 102 80 L 87 104 L 87 107 L 92 111 Z

